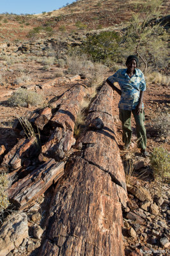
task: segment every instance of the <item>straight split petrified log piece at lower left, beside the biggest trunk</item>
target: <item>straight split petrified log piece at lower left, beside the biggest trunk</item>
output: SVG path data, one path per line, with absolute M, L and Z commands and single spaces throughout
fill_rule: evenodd
M 50 159 L 42 164 L 22 180 L 15 182 L 9 189 L 9 198 L 18 209 L 24 209 L 31 200 L 45 193 L 53 180 L 57 180 L 64 174 L 64 162 L 56 163 Z

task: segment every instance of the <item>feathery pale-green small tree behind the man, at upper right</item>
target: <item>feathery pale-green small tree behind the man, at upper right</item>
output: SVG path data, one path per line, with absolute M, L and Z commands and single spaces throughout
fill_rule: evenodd
M 145 64 L 160 66 L 167 55 L 167 33 L 158 24 L 162 0 L 145 1 L 136 5 L 137 13 L 132 16 L 123 45 L 129 52 L 135 52 Z

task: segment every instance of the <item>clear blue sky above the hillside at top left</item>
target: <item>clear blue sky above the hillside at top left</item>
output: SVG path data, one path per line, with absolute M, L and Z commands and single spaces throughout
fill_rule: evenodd
M 1 0 L 0 13 L 41 13 L 57 10 L 74 0 Z

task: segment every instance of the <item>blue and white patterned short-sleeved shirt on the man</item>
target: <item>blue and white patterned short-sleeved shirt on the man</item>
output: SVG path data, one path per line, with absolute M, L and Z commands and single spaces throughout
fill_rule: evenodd
M 127 68 L 119 69 L 113 76 L 108 77 L 111 83 L 117 82 L 120 85 L 122 94 L 118 108 L 125 110 L 136 109 L 139 102 L 140 92 L 146 90 L 145 77 L 143 72 L 135 68 L 131 78 L 127 75 Z M 143 104 L 142 104 L 143 105 Z M 144 108 L 144 106 L 142 106 Z

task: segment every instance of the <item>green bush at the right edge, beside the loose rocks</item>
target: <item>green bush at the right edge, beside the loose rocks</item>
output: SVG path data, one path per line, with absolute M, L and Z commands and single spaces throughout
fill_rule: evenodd
M 157 180 L 167 180 L 170 178 L 170 154 L 162 147 L 153 148 L 150 156 L 150 164 L 153 169 L 153 175 Z

